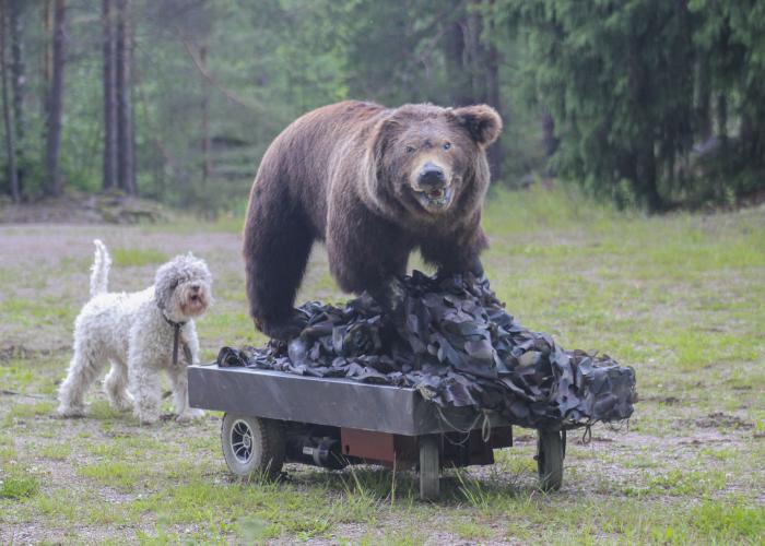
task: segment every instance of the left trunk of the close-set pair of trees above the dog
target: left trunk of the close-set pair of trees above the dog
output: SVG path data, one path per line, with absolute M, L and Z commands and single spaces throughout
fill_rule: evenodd
M 104 40 L 104 181 L 109 190 L 117 187 L 117 41 L 115 38 L 114 0 L 103 0 Z

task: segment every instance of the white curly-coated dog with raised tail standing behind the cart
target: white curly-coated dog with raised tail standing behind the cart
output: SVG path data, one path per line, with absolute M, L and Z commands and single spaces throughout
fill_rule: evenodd
M 85 414 L 85 392 L 107 363 L 104 391 L 117 410 L 133 408 L 141 423 L 160 418 L 160 371 L 170 379 L 177 420 L 204 415 L 189 407 L 186 366 L 199 363 L 196 317 L 212 304 L 212 276 L 191 253 L 162 265 L 154 286 L 136 293 L 108 293 L 111 259 L 95 244 L 91 300 L 74 322 L 74 355 L 59 389 L 58 413 Z M 180 347 L 180 351 L 179 351 Z

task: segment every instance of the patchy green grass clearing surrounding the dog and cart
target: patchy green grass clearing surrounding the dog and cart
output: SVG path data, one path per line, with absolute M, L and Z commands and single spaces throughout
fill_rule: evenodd
M 234 482 L 220 414 L 141 427 L 94 388 L 87 418 L 58 419 L 93 238 L 109 244 L 114 289 L 148 285 L 167 249 L 210 262 L 217 302 L 198 321 L 204 358 L 263 342 L 247 317 L 240 218 L 0 228 L 0 387 L 22 394 L 0 394 L 0 543 L 78 542 L 86 530 L 92 542 L 144 544 L 762 544 L 763 210 L 644 217 L 537 189 L 493 193 L 484 225 L 489 277 L 522 324 L 637 372 L 628 429 L 597 426 L 589 444 L 573 432 L 561 491 L 537 488 L 522 429 L 493 466 L 448 471 L 432 505 L 417 500 L 414 475 L 376 467 L 289 465 L 284 483 Z M 31 233 L 50 256 L 9 250 Z M 321 251 L 298 298 L 344 298 Z

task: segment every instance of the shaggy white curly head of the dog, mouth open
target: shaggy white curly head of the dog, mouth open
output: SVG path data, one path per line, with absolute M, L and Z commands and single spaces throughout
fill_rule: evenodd
M 212 305 L 212 275 L 208 265 L 190 252 L 178 256 L 156 272 L 156 305 L 176 322 L 199 317 Z

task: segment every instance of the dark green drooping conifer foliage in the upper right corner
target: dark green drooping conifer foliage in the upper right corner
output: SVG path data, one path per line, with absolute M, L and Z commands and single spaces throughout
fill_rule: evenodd
M 562 174 L 654 212 L 763 188 L 762 2 L 503 3 L 526 34 L 529 94 L 555 120 Z M 722 143 L 694 151 L 710 136 L 713 95 L 740 129 L 728 142 L 718 107 Z

